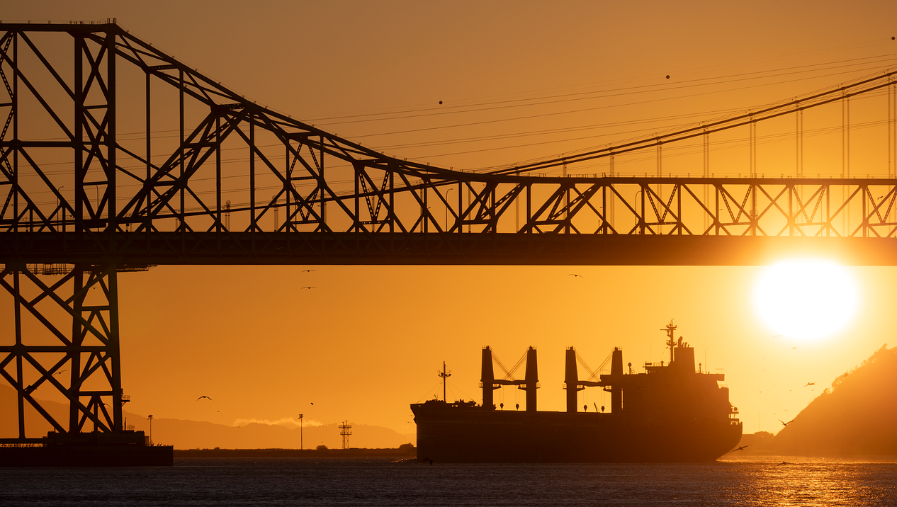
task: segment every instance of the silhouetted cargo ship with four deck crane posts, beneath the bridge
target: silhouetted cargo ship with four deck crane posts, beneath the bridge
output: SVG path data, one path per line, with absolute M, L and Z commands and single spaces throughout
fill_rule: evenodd
M 419 460 L 444 463 L 512 462 L 700 462 L 717 460 L 736 447 L 742 434 L 738 409 L 719 385 L 723 373 L 695 368 L 694 348 L 675 339 L 666 325 L 669 362 L 645 363 L 636 374 L 623 371 L 623 350 L 614 348 L 610 374 L 580 380 L 576 350 L 566 351 L 565 412 L 536 409 L 536 348 L 526 354 L 523 380 L 496 379 L 492 349 L 483 348 L 483 403 L 428 400 L 411 405 L 417 425 Z M 501 365 L 501 364 L 500 364 Z M 502 366 L 503 368 L 503 366 Z M 600 367 L 598 368 L 600 371 Z M 596 378 L 597 377 L 597 378 Z M 515 385 L 526 391 L 524 410 L 496 408 L 493 391 Z M 610 410 L 579 408 L 586 387 L 610 392 Z

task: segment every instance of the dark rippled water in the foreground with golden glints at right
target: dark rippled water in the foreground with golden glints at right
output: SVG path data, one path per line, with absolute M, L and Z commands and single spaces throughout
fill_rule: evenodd
M 897 456 L 675 465 L 180 458 L 166 468 L 0 468 L 0 504 L 897 505 Z

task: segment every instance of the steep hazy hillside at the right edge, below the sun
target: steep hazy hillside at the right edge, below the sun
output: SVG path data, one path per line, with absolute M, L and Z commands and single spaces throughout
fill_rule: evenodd
M 897 348 L 885 344 L 835 379 L 776 434 L 771 451 L 801 456 L 897 454 Z

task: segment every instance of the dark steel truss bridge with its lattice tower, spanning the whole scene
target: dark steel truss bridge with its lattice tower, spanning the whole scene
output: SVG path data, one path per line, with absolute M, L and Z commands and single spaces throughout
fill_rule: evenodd
M 388 156 L 258 105 L 114 20 L 0 23 L 0 285 L 13 301 L 0 375 L 16 390 L 19 427 L 3 442 L 40 442 L 26 436 L 29 406 L 60 434 L 128 429 L 120 271 L 745 265 L 785 254 L 894 265 L 891 168 L 888 177 L 804 177 L 798 165 L 794 176 L 765 176 L 752 155 L 749 174 L 725 177 L 710 173 L 706 152 L 711 135 L 748 128 L 753 153 L 757 125 L 873 92 L 888 94 L 890 140 L 894 74 L 600 150 L 465 172 Z M 694 176 L 664 176 L 664 150 L 701 140 Z M 614 158 L 640 152 L 656 156 L 656 172 L 614 171 Z M 566 174 L 597 159 L 609 170 Z M 52 391 L 68 400 L 68 420 L 34 398 Z

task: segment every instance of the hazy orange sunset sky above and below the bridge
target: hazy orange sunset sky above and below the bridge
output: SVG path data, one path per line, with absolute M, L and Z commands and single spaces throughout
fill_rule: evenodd
M 551 156 L 788 99 L 880 72 L 897 52 L 897 4 L 884 1 L 847 9 L 835 2 L 33 1 L 4 6 L 3 15 L 116 17 L 260 104 L 455 168 Z M 856 107 L 858 118 L 873 114 Z M 393 119 L 370 116 L 385 112 Z M 557 132 L 565 128 L 573 130 Z M 502 137 L 476 141 L 484 136 Z M 784 167 L 775 153 L 762 159 L 770 172 Z M 816 153 L 818 172 L 830 169 L 822 146 Z M 856 156 L 858 172 L 887 174 L 882 157 Z M 854 321 L 799 343 L 773 338 L 762 322 L 753 294 L 763 272 L 162 266 L 123 274 L 128 409 L 224 424 L 304 412 L 307 421 L 407 432 L 408 404 L 441 391 L 443 360 L 452 370 L 449 398 L 481 399 L 484 345 L 505 364 L 536 346 L 539 408 L 563 409 L 563 348 L 577 347 L 593 367 L 614 347 L 633 365 L 659 361 L 658 330 L 675 318 L 698 362 L 706 354 L 710 368 L 725 368 L 745 433 L 774 432 L 776 418 L 796 414 L 835 376 L 894 341 L 897 270 L 851 268 L 861 294 Z M 302 285 L 318 290 L 297 290 Z M 816 382 L 815 391 L 800 387 L 806 382 Z M 496 391 L 496 401 L 513 406 L 517 392 Z M 199 395 L 215 405 L 197 404 Z M 588 390 L 593 402 L 604 404 L 597 389 Z

